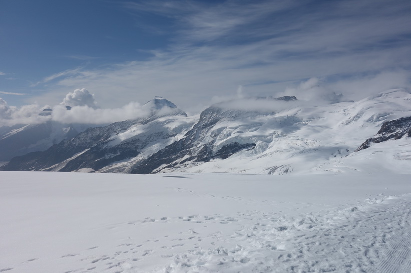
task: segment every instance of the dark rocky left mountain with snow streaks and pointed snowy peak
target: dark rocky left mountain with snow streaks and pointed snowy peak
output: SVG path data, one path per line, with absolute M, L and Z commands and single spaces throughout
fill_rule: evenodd
M 196 118 L 156 97 L 144 106 L 145 118 L 89 128 L 44 152 L 13 158 L 4 170 L 126 172 L 161 147 L 181 138 Z

